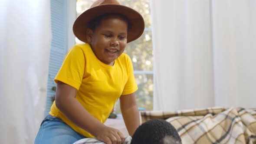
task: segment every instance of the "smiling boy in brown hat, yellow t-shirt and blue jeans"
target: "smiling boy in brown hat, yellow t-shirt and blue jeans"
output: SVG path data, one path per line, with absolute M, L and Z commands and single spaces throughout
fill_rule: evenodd
M 73 32 L 85 44 L 69 50 L 56 75 L 56 98 L 36 144 L 72 144 L 85 137 L 121 144 L 123 134 L 104 125 L 118 98 L 133 135 L 139 126 L 138 86 L 131 59 L 123 52 L 143 31 L 142 16 L 116 0 L 97 0 L 75 20 Z

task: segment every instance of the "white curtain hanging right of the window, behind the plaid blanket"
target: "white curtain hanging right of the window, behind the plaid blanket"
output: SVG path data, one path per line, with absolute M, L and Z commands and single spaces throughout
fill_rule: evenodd
M 151 0 L 154 110 L 256 107 L 256 0 Z

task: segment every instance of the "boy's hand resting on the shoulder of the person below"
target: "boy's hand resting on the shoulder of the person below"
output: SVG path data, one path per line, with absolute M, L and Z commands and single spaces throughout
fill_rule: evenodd
M 122 144 L 125 141 L 125 137 L 120 131 L 107 126 L 97 131 L 96 138 L 106 144 Z

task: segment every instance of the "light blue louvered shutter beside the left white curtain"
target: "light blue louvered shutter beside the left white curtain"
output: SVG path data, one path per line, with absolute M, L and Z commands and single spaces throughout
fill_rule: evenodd
M 54 78 L 67 53 L 67 0 L 51 0 L 52 45 L 49 57 L 49 75 L 45 115 L 48 115 L 55 96 Z

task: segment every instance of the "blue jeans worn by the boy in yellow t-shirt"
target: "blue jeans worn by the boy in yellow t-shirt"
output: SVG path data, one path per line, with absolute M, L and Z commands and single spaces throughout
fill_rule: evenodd
M 85 136 L 77 133 L 59 118 L 47 115 L 43 120 L 35 144 L 73 144 Z

